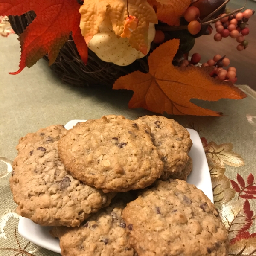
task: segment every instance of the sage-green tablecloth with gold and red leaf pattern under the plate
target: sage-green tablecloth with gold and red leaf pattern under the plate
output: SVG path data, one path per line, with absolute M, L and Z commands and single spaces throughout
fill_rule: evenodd
M 136 119 L 152 113 L 128 109 L 132 95 L 129 91 L 62 84 L 44 60 L 19 75 L 9 75 L 8 72 L 17 70 L 19 58 L 17 36 L 0 37 L 0 256 L 57 256 L 17 233 L 17 205 L 12 199 L 9 177 L 18 139 L 28 132 L 65 124 L 71 119 L 97 119 L 108 114 Z M 202 138 L 215 206 L 230 232 L 230 255 L 255 256 L 256 92 L 246 85 L 239 87 L 247 93 L 246 99 L 193 100 L 203 107 L 224 112 L 225 117 L 168 117 L 197 130 Z

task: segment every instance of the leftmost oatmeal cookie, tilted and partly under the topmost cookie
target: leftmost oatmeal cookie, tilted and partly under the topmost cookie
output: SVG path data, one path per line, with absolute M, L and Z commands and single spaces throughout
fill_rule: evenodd
M 17 213 L 43 226 L 79 226 L 91 213 L 108 206 L 114 194 L 87 186 L 65 170 L 58 156 L 58 139 L 67 131 L 64 127 L 58 126 L 57 136 L 52 136 L 52 131 L 57 133 L 52 126 L 44 128 L 44 135 L 39 131 L 17 146 L 18 159 L 10 178 Z

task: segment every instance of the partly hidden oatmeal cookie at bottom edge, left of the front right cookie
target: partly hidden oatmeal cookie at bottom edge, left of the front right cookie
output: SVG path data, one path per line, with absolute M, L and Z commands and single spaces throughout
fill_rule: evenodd
M 80 227 L 54 227 L 52 233 L 60 239 L 61 255 L 135 256 L 121 217 L 124 207 L 118 202 L 101 209 Z

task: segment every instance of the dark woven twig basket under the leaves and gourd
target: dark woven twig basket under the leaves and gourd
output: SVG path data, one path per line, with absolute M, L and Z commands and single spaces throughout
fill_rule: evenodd
M 21 16 L 9 16 L 9 21 L 15 33 L 20 35 L 32 23 L 35 17 L 35 12 L 31 11 Z M 61 81 L 79 87 L 112 87 L 114 81 L 120 76 L 124 76 L 135 70 L 140 70 L 144 73 L 148 72 L 148 56 L 138 59 L 128 66 L 121 67 L 102 61 L 90 49 L 88 55 L 88 63 L 85 65 L 81 61 L 76 45 L 70 35 L 70 40 L 61 48 L 58 58 L 50 67 Z M 47 55 L 44 58 L 48 61 Z

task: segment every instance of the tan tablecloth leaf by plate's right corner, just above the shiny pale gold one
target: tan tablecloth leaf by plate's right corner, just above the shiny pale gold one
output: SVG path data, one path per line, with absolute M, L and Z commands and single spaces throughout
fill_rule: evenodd
M 214 204 L 218 208 L 233 199 L 236 194 L 235 190 L 230 188 L 230 180 L 225 175 L 212 178 L 212 191 Z

